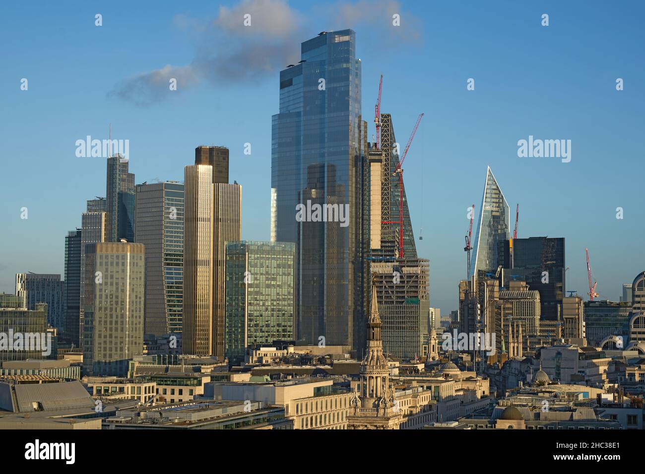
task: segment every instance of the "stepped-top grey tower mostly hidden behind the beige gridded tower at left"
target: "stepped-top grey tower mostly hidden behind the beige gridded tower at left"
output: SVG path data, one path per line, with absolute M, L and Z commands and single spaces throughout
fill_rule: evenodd
M 85 251 L 88 243 L 108 242 L 110 222 L 106 209 L 106 200 L 89 200 L 87 212 L 81 216 L 81 288 L 79 290 L 79 330 L 70 336 L 72 343 L 83 347 L 83 313 L 85 298 Z

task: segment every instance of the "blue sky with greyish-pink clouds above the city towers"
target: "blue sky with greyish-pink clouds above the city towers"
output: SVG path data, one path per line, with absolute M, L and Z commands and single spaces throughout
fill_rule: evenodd
M 243 239 L 269 240 L 279 71 L 299 61 L 301 42 L 352 28 L 370 136 L 381 73 L 381 111 L 399 142 L 425 114 L 404 182 L 417 251 L 430 260 L 430 304 L 457 308 L 467 208 L 481 203 L 487 166 L 511 213 L 519 203 L 520 238 L 566 238 L 566 290 L 588 292 L 588 248 L 600 299 L 617 301 L 645 269 L 644 5 L 3 3 L 0 291 L 14 292 L 17 272 L 63 274 L 64 236 L 80 227 L 86 200 L 105 195 L 106 160 L 77 157 L 75 142 L 107 138 L 110 123 L 113 138 L 130 140 L 137 184 L 182 181 L 196 146 L 228 147 Z M 519 157 L 530 135 L 571 140 L 570 162 Z

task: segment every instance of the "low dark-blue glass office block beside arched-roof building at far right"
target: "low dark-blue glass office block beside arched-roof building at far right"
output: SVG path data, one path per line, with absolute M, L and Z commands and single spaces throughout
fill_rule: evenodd
M 630 337 L 630 312 L 631 303 L 628 301 L 584 301 L 584 328 L 588 344 L 600 347 L 606 339 L 622 336 L 625 348 Z

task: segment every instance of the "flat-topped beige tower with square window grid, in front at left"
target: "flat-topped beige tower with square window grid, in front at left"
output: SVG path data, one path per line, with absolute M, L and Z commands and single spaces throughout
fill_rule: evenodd
M 86 246 L 83 373 L 128 373 L 143 354 L 145 248 L 141 243 Z

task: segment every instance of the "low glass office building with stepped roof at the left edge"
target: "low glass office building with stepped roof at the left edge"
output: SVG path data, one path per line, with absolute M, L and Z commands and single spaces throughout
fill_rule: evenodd
M 0 363 L 45 359 L 47 354 L 43 352 L 54 350 L 47 346 L 46 332 L 47 303 L 36 303 L 34 310 L 28 310 L 21 296 L 0 294 Z M 19 337 L 23 343 L 17 344 Z

